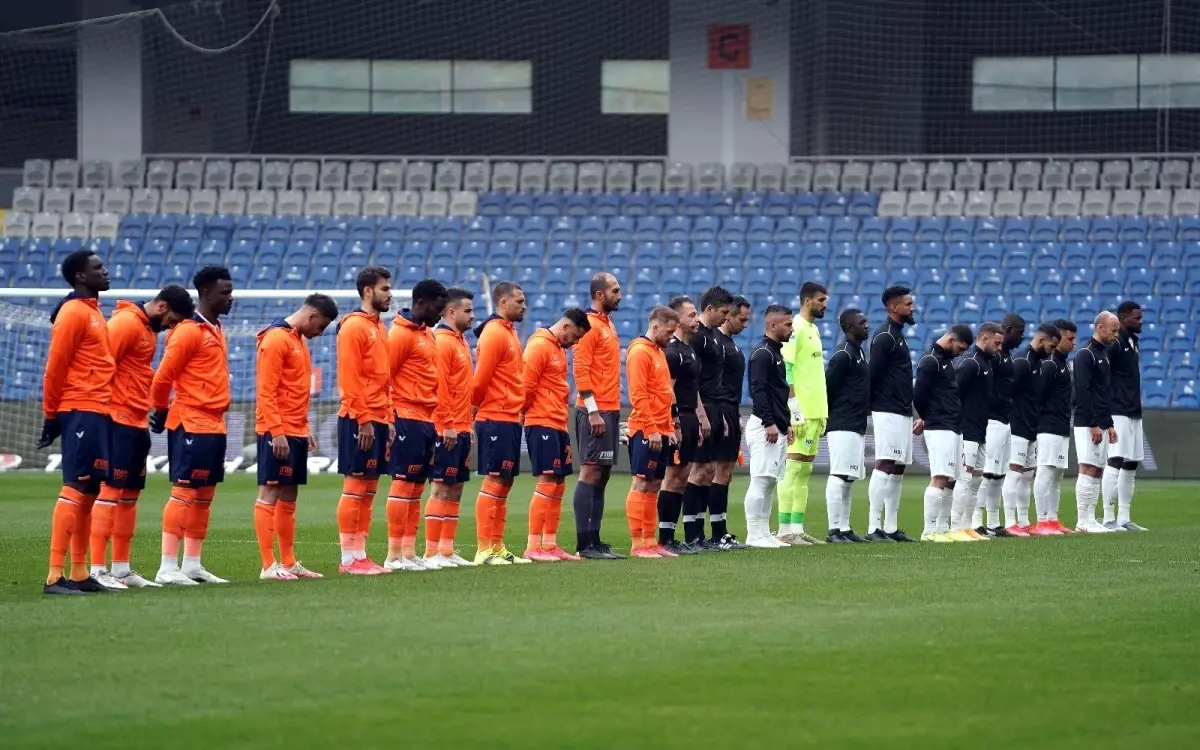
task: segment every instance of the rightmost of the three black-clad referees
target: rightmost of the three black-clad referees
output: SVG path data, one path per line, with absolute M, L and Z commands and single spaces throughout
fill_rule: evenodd
M 708 521 L 713 526 L 712 544 L 722 550 L 742 550 L 744 544 L 731 534 L 726 523 L 726 511 L 730 506 L 730 481 L 733 480 L 733 467 L 742 452 L 742 389 L 746 380 L 746 355 L 733 337 L 746 330 L 750 324 L 750 301 L 744 296 L 733 298 L 730 314 L 716 330 L 716 340 L 725 348 L 721 358 L 721 416 L 725 419 L 725 436 L 715 446 L 716 464 L 713 472 L 713 487 L 709 490 Z

